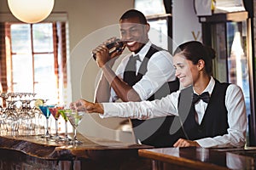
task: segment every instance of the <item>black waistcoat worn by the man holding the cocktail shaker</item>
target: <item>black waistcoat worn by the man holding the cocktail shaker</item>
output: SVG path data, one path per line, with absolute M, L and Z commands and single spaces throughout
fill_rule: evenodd
M 132 71 L 128 71 L 127 65 L 125 67 L 124 72 L 124 81 L 127 82 L 130 86 L 133 86 L 138 81 L 140 81 L 143 76 L 148 71 L 148 60 L 151 56 L 164 49 L 159 48 L 155 45 L 152 45 L 146 56 L 142 61 L 142 65 L 140 66 L 137 76 L 131 74 Z M 172 92 L 177 91 L 179 88 L 178 80 L 173 82 L 166 82 L 155 94 L 153 94 L 148 100 L 161 99 L 165 97 L 167 94 L 171 94 Z M 149 119 L 147 121 L 131 119 L 131 124 L 133 127 L 133 132 L 135 134 L 136 139 L 140 139 L 143 144 L 153 145 L 154 147 L 168 147 L 172 146 L 170 142 L 168 142 L 170 137 L 170 127 L 172 125 L 174 116 L 166 116 L 160 118 Z

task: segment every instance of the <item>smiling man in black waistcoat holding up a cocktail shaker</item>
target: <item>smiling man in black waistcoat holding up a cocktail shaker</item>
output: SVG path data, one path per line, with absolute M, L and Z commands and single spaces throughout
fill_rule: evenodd
M 121 41 L 131 54 L 113 71 L 112 66 L 122 50 L 109 54 L 104 43 L 93 50 L 97 65 L 102 69 L 95 102 L 153 100 L 177 91 L 179 82 L 172 55 L 149 40 L 150 26 L 144 14 L 136 9 L 126 11 L 119 19 L 119 27 Z M 172 119 L 172 116 L 147 121 L 131 119 L 137 142 L 155 147 L 172 146 Z

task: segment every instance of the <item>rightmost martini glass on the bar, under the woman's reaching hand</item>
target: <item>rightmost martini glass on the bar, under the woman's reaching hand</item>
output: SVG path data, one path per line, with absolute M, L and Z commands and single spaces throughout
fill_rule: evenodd
M 74 129 L 73 140 L 70 144 L 80 144 L 81 141 L 77 138 L 77 128 L 79 127 L 79 123 L 82 121 L 84 117 L 84 112 L 82 111 L 66 111 L 67 118 Z

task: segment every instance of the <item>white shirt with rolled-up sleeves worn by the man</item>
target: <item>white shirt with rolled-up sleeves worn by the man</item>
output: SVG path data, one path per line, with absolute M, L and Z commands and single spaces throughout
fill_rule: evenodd
M 140 60 L 137 60 L 137 71 L 139 70 L 151 45 L 152 42 L 148 41 L 137 53 L 140 57 Z M 116 75 L 122 79 L 124 78 L 125 66 L 127 65 L 130 56 L 131 54 L 125 56 L 116 70 Z M 145 100 L 154 94 L 165 82 L 174 81 L 175 78 L 172 55 L 166 50 L 163 50 L 156 52 L 151 56 L 148 60 L 148 71 L 132 88 L 137 92 L 142 100 Z M 110 101 L 116 101 L 117 99 L 119 99 L 119 97 L 115 94 L 113 88 L 111 88 Z

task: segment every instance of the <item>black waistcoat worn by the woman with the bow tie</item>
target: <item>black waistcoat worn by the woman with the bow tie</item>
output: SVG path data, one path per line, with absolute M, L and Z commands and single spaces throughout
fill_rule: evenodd
M 225 94 L 230 84 L 220 83 L 217 80 L 215 82 L 201 125 L 195 122 L 195 113 L 191 107 L 193 89 L 185 88 L 182 90 L 179 98 L 178 113 L 180 121 L 183 122 L 183 128 L 179 131 L 179 137 L 183 136 L 184 139 L 195 140 L 207 137 L 212 138 L 228 133 L 229 124 L 228 111 L 225 106 Z

